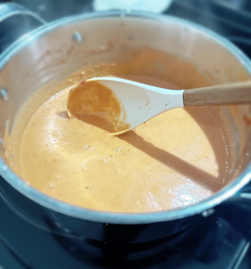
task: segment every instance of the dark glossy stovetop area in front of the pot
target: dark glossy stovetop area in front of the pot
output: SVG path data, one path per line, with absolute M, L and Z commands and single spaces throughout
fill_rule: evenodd
M 141 243 L 140 247 L 93 240 L 69 241 L 26 222 L 2 200 L 0 208 L 3 269 L 251 267 L 251 214 L 238 207 L 217 207 L 213 214 L 177 235 L 181 240 L 175 246 L 170 240 L 160 239 Z

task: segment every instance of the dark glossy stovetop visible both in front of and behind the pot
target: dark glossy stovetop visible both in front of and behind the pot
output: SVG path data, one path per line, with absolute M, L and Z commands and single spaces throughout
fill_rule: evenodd
M 16 2 L 47 21 L 93 10 L 89 0 L 62 0 L 60 5 L 57 1 Z M 251 1 L 174 0 L 163 13 L 200 23 L 227 37 L 251 57 Z M 250 223 L 251 210 L 248 214 L 239 207 L 220 205 L 213 214 L 177 235 L 179 240 L 176 236 L 173 240 L 178 243 L 174 245 L 172 239 L 140 247 L 74 242 L 28 223 L 0 199 L 0 268 L 247 269 L 251 268 Z

